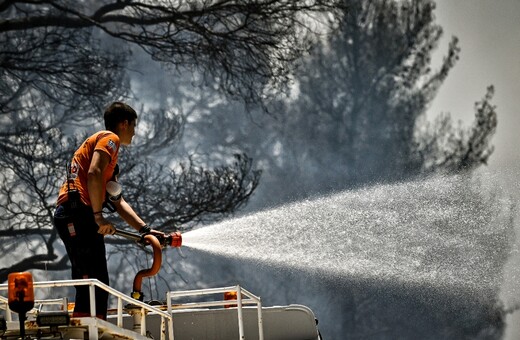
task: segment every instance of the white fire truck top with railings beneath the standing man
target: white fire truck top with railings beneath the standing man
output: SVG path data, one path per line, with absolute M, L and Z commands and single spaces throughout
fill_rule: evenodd
M 75 318 L 67 297 L 34 301 L 23 323 L 26 339 L 269 339 L 320 340 L 311 309 L 302 305 L 263 307 L 261 299 L 236 286 L 169 291 L 162 302 L 145 303 L 95 279 L 34 282 L 34 290 L 64 291 L 88 285 L 91 316 Z M 109 293 L 107 320 L 95 317 L 95 287 Z M 20 337 L 20 319 L 9 308 L 8 285 L 0 285 L 0 339 Z M 59 293 L 58 293 L 59 294 Z M 228 298 L 224 298 L 228 296 Z M 231 300 L 229 299 L 231 296 Z

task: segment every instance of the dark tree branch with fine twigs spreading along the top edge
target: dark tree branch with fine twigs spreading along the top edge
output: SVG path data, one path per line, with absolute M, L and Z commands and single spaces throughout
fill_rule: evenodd
M 281 88 L 291 63 L 338 16 L 339 0 L 5 3 L 0 32 L 99 29 L 155 60 L 214 76 L 225 93 L 257 101 Z M 0 7 L 1 8 L 1 7 Z M 319 20 L 319 21 L 318 21 Z

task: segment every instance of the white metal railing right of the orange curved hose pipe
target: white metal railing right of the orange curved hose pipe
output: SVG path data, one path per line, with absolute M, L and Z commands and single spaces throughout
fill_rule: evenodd
M 238 333 L 239 339 L 245 339 L 244 334 L 244 316 L 242 306 L 256 305 L 258 311 L 258 338 L 259 340 L 264 339 L 264 329 L 262 321 L 262 302 L 260 297 L 253 295 L 239 285 L 221 287 L 221 288 L 206 288 L 206 289 L 195 289 L 195 290 L 184 290 L 184 291 L 170 291 L 166 293 L 166 303 L 168 307 L 168 314 L 173 315 L 173 310 L 177 309 L 192 309 L 192 308 L 207 308 L 207 307 L 222 307 L 235 304 L 235 300 L 221 300 L 221 301 L 202 301 L 202 302 L 187 302 L 187 303 L 176 303 L 172 304 L 172 299 L 179 297 L 195 297 L 202 295 L 211 294 L 222 294 L 227 292 L 236 292 L 236 305 L 237 305 L 237 317 L 238 317 Z M 173 328 L 171 329 L 170 339 L 174 340 Z

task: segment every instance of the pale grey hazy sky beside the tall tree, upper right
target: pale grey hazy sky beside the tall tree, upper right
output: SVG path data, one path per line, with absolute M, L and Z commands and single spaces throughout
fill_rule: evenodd
M 437 0 L 436 18 L 444 29 L 439 56 L 453 35 L 461 53 L 429 113 L 450 112 L 469 125 L 474 103 L 494 85 L 498 128 L 490 167 L 520 166 L 520 0 Z

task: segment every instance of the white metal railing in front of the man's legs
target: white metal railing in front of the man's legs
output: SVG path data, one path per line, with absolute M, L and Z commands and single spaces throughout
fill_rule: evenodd
M 41 288 L 53 288 L 53 287 L 73 287 L 73 286 L 89 286 L 89 297 L 90 297 L 90 316 L 96 316 L 96 301 L 95 301 L 95 288 L 98 287 L 103 289 L 117 298 L 117 327 L 123 328 L 123 301 L 126 301 L 134 306 L 141 307 L 141 329 L 140 333 L 142 336 L 146 336 L 146 313 L 153 312 L 161 316 L 161 340 L 166 339 L 166 328 L 168 328 L 168 333 L 171 334 L 170 339 L 173 339 L 173 321 L 171 312 L 164 312 L 154 306 L 146 304 L 142 301 L 133 299 L 130 296 L 127 296 L 114 288 L 107 286 L 106 284 L 100 282 L 97 279 L 81 279 L 81 280 L 58 280 L 58 281 L 41 281 L 34 282 L 34 289 Z M 0 284 L 0 291 L 7 290 L 7 284 Z M 35 304 L 56 304 L 58 300 L 63 302 L 63 299 L 48 299 L 48 300 L 35 300 Z M 65 300 L 66 301 L 66 300 Z M 0 303 L 5 304 L 6 310 L 6 320 L 12 321 L 12 311 L 9 308 L 8 299 L 4 296 L 0 296 Z M 67 308 L 67 304 L 65 302 L 65 309 Z M 90 323 L 89 326 L 89 336 L 91 340 L 98 339 L 98 332 L 96 329 L 95 323 Z

